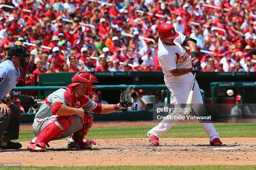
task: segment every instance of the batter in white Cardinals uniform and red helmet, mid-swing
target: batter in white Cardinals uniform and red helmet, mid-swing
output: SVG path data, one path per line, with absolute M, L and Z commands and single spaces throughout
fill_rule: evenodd
M 158 29 L 158 52 L 157 57 L 160 66 L 163 68 L 165 85 L 171 93 L 175 107 L 178 104 L 186 103 L 193 83 L 193 74 L 201 70 L 200 61 L 197 57 L 196 40 L 186 37 L 182 33 L 175 31 L 172 24 L 164 23 Z M 185 46 L 191 51 L 191 59 Z M 192 64 L 192 66 L 191 66 Z M 198 114 L 199 109 L 206 111 L 199 86 L 195 82 L 192 108 Z M 181 113 L 170 113 L 169 115 L 180 115 Z M 148 131 L 149 140 L 159 145 L 159 137 L 167 132 L 179 120 L 164 119 L 157 126 Z M 216 132 L 212 123 L 201 123 L 205 132 L 210 137 L 210 145 L 221 146 L 219 134 Z

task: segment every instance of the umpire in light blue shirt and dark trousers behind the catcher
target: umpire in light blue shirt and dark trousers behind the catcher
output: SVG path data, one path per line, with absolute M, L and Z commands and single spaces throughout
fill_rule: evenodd
M 25 67 L 28 65 L 30 53 L 23 45 L 12 44 L 7 55 L 7 60 L 0 63 L 0 148 L 19 149 L 22 145 L 10 140 L 19 138 L 21 113 L 19 107 L 12 103 L 10 94 L 18 83 L 18 67 L 23 68 L 23 79 L 26 80 Z

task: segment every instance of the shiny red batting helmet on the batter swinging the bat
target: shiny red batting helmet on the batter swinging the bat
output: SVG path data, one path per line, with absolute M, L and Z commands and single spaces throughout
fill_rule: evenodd
M 162 35 L 163 37 L 168 39 L 173 39 L 179 36 L 179 33 L 175 31 L 173 25 L 168 23 L 164 23 L 159 26 L 158 34 L 159 36 Z

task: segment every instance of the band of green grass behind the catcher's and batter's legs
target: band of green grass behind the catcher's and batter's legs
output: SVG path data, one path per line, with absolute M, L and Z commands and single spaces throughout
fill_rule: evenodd
M 120 122 L 122 123 L 122 122 Z M 237 124 L 214 124 L 220 137 L 256 137 L 256 124 L 237 123 Z M 143 127 L 111 127 L 111 128 L 92 128 L 86 136 L 87 139 L 101 138 L 145 138 L 152 126 Z M 32 131 L 19 133 L 19 139 L 15 141 L 29 141 L 34 137 Z M 161 137 L 198 137 L 207 138 L 207 134 L 201 125 L 176 125 Z

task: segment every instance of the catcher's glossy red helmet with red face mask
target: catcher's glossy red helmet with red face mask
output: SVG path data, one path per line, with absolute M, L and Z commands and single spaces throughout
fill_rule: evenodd
M 70 87 L 76 86 L 81 82 L 88 82 L 87 95 L 89 95 L 90 97 L 97 89 L 96 86 L 93 86 L 93 83 L 98 83 L 97 78 L 94 75 L 87 73 L 85 71 L 80 71 L 76 73 L 72 77 L 71 81 L 72 83 L 69 85 Z

